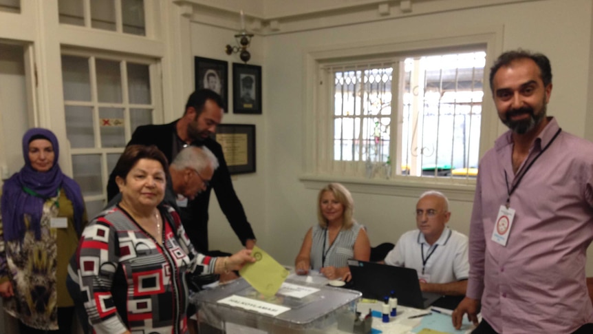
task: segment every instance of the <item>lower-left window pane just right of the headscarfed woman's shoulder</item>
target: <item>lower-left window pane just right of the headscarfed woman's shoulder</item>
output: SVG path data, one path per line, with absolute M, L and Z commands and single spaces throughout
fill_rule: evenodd
M 74 180 L 80 185 L 83 196 L 103 195 L 101 181 L 101 155 L 80 154 L 72 156 Z

